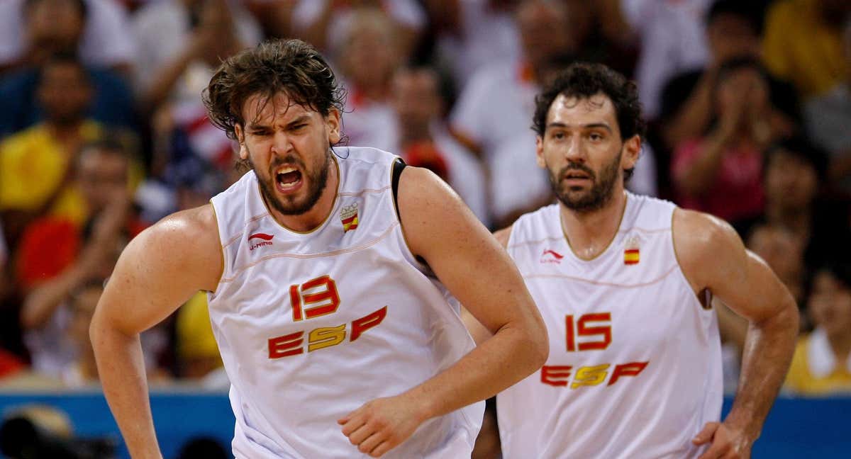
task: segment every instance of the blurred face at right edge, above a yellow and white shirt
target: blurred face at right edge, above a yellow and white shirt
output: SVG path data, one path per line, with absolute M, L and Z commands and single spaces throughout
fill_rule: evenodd
M 851 286 L 838 280 L 828 270 L 820 270 L 813 280 L 809 311 L 816 326 L 828 337 L 851 333 Z

